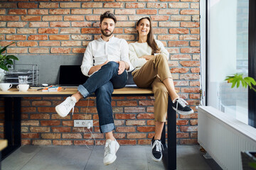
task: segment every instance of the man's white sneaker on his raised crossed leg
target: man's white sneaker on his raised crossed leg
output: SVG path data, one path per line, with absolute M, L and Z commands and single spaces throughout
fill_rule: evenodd
M 74 97 L 68 97 L 63 101 L 63 103 L 60 103 L 58 106 L 55 107 L 55 111 L 60 115 L 61 117 L 65 117 L 70 113 L 71 109 L 73 109 L 72 114 L 74 113 L 74 107 L 75 107 L 75 99 Z

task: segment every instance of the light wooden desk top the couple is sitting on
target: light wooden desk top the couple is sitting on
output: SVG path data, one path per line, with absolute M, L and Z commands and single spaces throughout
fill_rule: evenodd
M 21 95 L 21 96 L 30 96 L 30 95 L 70 95 L 75 94 L 78 91 L 78 89 L 61 89 L 60 91 L 55 92 L 43 92 L 43 91 L 37 91 L 36 89 L 28 89 L 28 91 L 22 92 L 18 91 L 16 88 L 11 88 L 8 91 L 0 91 L 0 96 L 12 96 L 12 95 Z M 124 87 L 122 89 L 114 89 L 113 92 L 114 95 L 122 95 L 122 94 L 153 94 L 152 89 L 140 89 L 137 87 Z

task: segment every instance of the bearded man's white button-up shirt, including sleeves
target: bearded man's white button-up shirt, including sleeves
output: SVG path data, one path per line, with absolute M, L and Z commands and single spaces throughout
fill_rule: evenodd
M 107 42 L 102 40 L 102 38 L 99 38 L 97 40 L 93 40 L 89 45 L 87 45 L 82 59 L 82 74 L 90 77 L 92 75 L 88 75 L 90 68 L 98 64 L 103 64 L 107 60 L 114 62 L 127 62 L 129 64 L 128 72 L 131 72 L 134 69 L 129 61 L 129 46 L 127 41 L 115 38 L 113 35 Z

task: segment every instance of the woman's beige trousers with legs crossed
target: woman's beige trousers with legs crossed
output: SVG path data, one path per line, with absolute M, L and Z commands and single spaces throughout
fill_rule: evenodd
M 172 78 L 168 61 L 164 55 L 156 55 L 146 62 L 142 68 L 132 72 L 134 83 L 139 88 L 152 88 L 154 92 L 154 118 L 165 122 L 168 108 L 168 91 L 162 82 Z

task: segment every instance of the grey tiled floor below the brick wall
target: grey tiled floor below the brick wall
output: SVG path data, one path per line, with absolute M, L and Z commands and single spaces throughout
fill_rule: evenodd
M 105 166 L 104 146 L 23 146 L 1 162 L 3 170 L 160 170 L 162 162 L 151 159 L 149 145 L 121 146 L 117 160 Z M 213 159 L 205 159 L 198 145 L 177 146 L 177 169 L 220 169 Z

